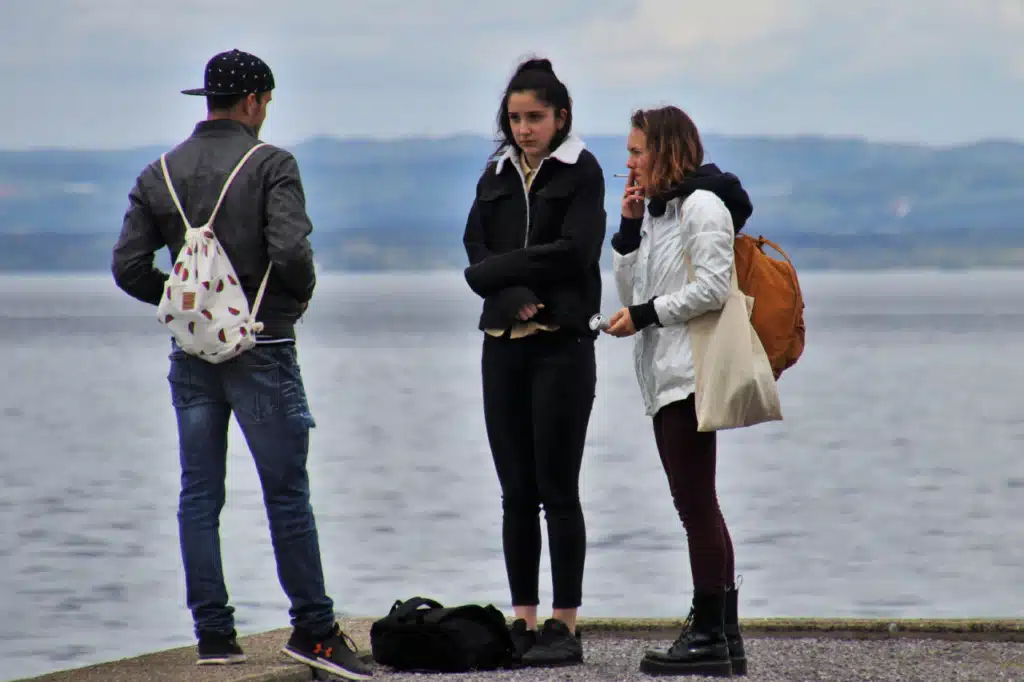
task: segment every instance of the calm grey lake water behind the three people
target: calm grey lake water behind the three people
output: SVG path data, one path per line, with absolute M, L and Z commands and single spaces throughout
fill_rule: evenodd
M 786 420 L 720 437 L 741 614 L 1022 615 L 1024 272 L 802 284 Z M 509 608 L 477 309 L 460 273 L 325 275 L 300 326 L 313 507 L 344 613 L 418 594 Z M 153 309 L 105 276 L 6 278 L 0 323 L 0 679 L 190 644 Z M 684 614 L 685 538 L 630 342 L 603 337 L 598 363 L 582 614 Z M 285 627 L 258 480 L 231 438 L 221 534 L 239 629 Z

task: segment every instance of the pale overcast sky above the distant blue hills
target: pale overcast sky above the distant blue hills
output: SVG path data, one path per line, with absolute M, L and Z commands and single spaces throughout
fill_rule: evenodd
M 207 59 L 278 81 L 263 137 L 489 134 L 521 56 L 578 132 L 675 103 L 701 130 L 1024 139 L 1024 0 L 0 0 L 0 147 L 170 143 Z

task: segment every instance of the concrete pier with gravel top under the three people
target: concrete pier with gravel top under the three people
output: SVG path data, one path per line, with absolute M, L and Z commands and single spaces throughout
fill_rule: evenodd
M 372 620 L 343 622 L 369 651 Z M 642 680 L 643 648 L 671 641 L 682 623 L 667 620 L 581 620 L 584 666 L 464 675 L 410 675 L 378 668 L 374 679 L 440 680 Z M 776 680 L 998 680 L 1024 681 L 1024 620 L 820 620 L 742 622 L 750 674 L 746 682 Z M 51 673 L 32 682 L 307 682 L 309 668 L 281 653 L 288 630 L 240 639 L 249 662 L 196 666 L 195 647 Z M 699 679 L 699 678 L 688 678 Z M 29 682 L 23 680 L 18 682 Z

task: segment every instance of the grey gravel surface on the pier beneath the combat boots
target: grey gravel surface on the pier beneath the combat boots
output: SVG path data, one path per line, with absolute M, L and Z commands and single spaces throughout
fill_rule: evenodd
M 643 650 L 669 642 L 630 639 L 584 641 L 583 666 L 462 675 L 393 673 L 378 669 L 375 680 L 458 682 L 630 682 L 652 678 L 639 672 Z M 749 639 L 744 682 L 1024 682 L 1024 643 L 892 639 Z M 687 680 L 716 678 L 687 677 Z M 717 678 L 721 679 L 721 678 Z

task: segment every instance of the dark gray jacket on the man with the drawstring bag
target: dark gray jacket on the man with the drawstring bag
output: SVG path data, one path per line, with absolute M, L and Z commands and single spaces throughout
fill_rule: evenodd
M 174 189 L 193 225 L 205 223 L 227 175 L 259 140 L 236 121 L 202 121 L 167 155 Z M 184 225 L 164 183 L 160 161 L 150 164 L 128 195 L 129 207 L 111 266 L 118 287 L 158 305 L 167 273 L 154 265 L 167 247 L 169 264 L 184 242 Z M 272 145 L 257 150 L 234 178 L 213 229 L 252 305 L 272 262 L 257 318 L 261 336 L 294 338 L 295 323 L 312 298 L 316 275 L 305 195 L 295 158 Z

